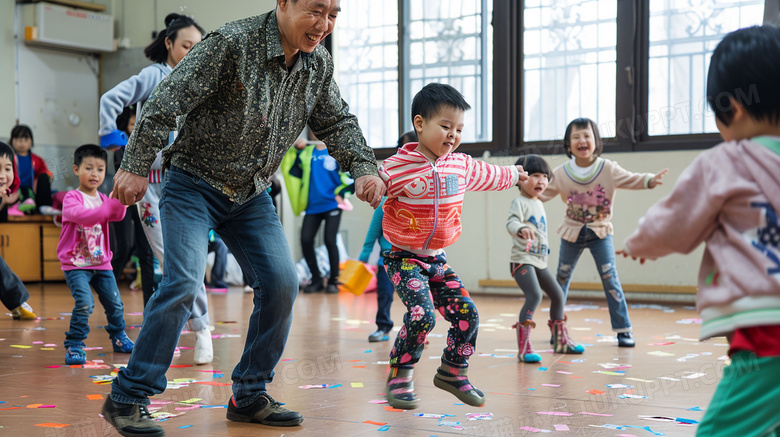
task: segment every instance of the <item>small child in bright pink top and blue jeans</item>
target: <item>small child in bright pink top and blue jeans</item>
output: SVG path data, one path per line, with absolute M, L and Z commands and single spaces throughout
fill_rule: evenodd
M 108 223 L 122 220 L 125 207 L 97 191 L 106 177 L 106 161 L 106 151 L 100 146 L 85 144 L 76 149 L 73 173 L 79 178 L 79 188 L 69 191 L 62 202 L 57 257 L 76 300 L 70 329 L 65 333 L 66 364 L 87 362 L 84 340 L 89 334 L 89 315 L 95 307 L 90 285 L 106 312 L 106 331 L 114 352 L 133 350 L 133 342 L 125 334 L 124 306 L 111 267 L 108 243 Z

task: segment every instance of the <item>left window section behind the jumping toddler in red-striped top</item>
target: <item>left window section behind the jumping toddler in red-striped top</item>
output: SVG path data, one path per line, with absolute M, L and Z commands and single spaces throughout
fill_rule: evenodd
M 402 0 L 344 5 L 336 25 L 337 82 L 370 146 L 394 147 L 399 134 L 412 129 L 412 99 L 430 82 L 452 85 L 472 106 L 464 120 L 464 143 L 491 140 L 492 4 Z

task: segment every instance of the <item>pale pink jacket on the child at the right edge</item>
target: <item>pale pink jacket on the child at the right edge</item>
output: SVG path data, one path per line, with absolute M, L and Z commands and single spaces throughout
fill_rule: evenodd
M 701 339 L 780 323 L 780 138 L 703 152 L 625 242 L 631 256 L 689 253 L 705 242 L 696 305 Z

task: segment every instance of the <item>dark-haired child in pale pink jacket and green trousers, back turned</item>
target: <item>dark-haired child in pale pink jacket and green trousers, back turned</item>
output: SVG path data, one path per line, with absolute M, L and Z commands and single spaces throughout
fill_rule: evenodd
M 780 29 L 732 32 L 715 48 L 707 100 L 724 142 L 651 207 L 624 253 L 655 259 L 705 243 L 701 339 L 725 335 L 723 371 L 697 436 L 780 432 Z

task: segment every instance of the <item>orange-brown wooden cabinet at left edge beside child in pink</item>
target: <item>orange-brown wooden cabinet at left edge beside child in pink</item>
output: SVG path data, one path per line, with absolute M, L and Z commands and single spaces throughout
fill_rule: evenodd
M 64 281 L 57 258 L 60 228 L 50 217 L 11 220 L 0 223 L 0 256 L 11 270 L 25 282 Z

